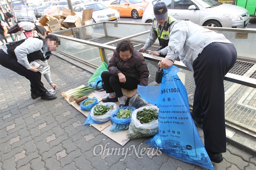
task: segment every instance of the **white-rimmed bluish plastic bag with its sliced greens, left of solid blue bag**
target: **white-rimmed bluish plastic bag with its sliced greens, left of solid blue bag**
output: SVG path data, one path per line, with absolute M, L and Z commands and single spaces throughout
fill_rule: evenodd
M 113 102 L 99 103 L 96 104 L 89 112 L 87 119 L 84 122 L 84 125 L 87 124 L 102 124 L 110 120 L 110 116 L 115 112 L 117 106 Z

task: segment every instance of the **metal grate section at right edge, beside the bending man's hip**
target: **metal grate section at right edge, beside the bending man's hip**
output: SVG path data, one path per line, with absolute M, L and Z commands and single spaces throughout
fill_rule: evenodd
M 243 76 L 254 64 L 236 61 L 234 67 L 229 70 L 229 73 Z

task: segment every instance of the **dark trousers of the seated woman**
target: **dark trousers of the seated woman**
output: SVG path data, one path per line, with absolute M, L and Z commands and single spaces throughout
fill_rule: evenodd
M 138 87 L 140 81 L 135 78 L 126 76 L 126 82 L 119 82 L 118 76 L 113 76 L 109 71 L 103 71 L 101 73 L 102 82 L 106 93 L 115 92 L 116 97 L 122 97 L 123 93 L 121 88 L 132 90 Z

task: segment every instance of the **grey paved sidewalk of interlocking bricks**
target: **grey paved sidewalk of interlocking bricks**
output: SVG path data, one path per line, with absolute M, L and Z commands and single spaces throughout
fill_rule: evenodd
M 146 154 L 142 148 L 150 148 L 145 143 L 149 138 L 130 140 L 122 147 L 94 127 L 84 126 L 86 117 L 61 92 L 86 84 L 92 74 L 56 56 L 49 64 L 59 87 L 53 101 L 31 99 L 28 80 L 0 66 L 0 170 L 205 170 L 164 154 Z M 198 131 L 202 137 L 202 129 Z M 103 154 L 105 146 L 124 151 L 134 146 L 138 155 Z M 223 157 L 222 163 L 214 164 L 215 170 L 256 170 L 256 156 L 229 143 Z

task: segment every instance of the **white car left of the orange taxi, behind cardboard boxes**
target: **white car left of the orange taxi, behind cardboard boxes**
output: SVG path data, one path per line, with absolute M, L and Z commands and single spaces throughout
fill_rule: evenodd
M 93 23 L 103 21 L 117 21 L 120 19 L 120 15 L 117 10 L 109 9 L 102 5 L 100 2 L 88 2 L 74 6 L 74 12 L 77 16 L 82 18 L 83 10 L 93 8 Z

